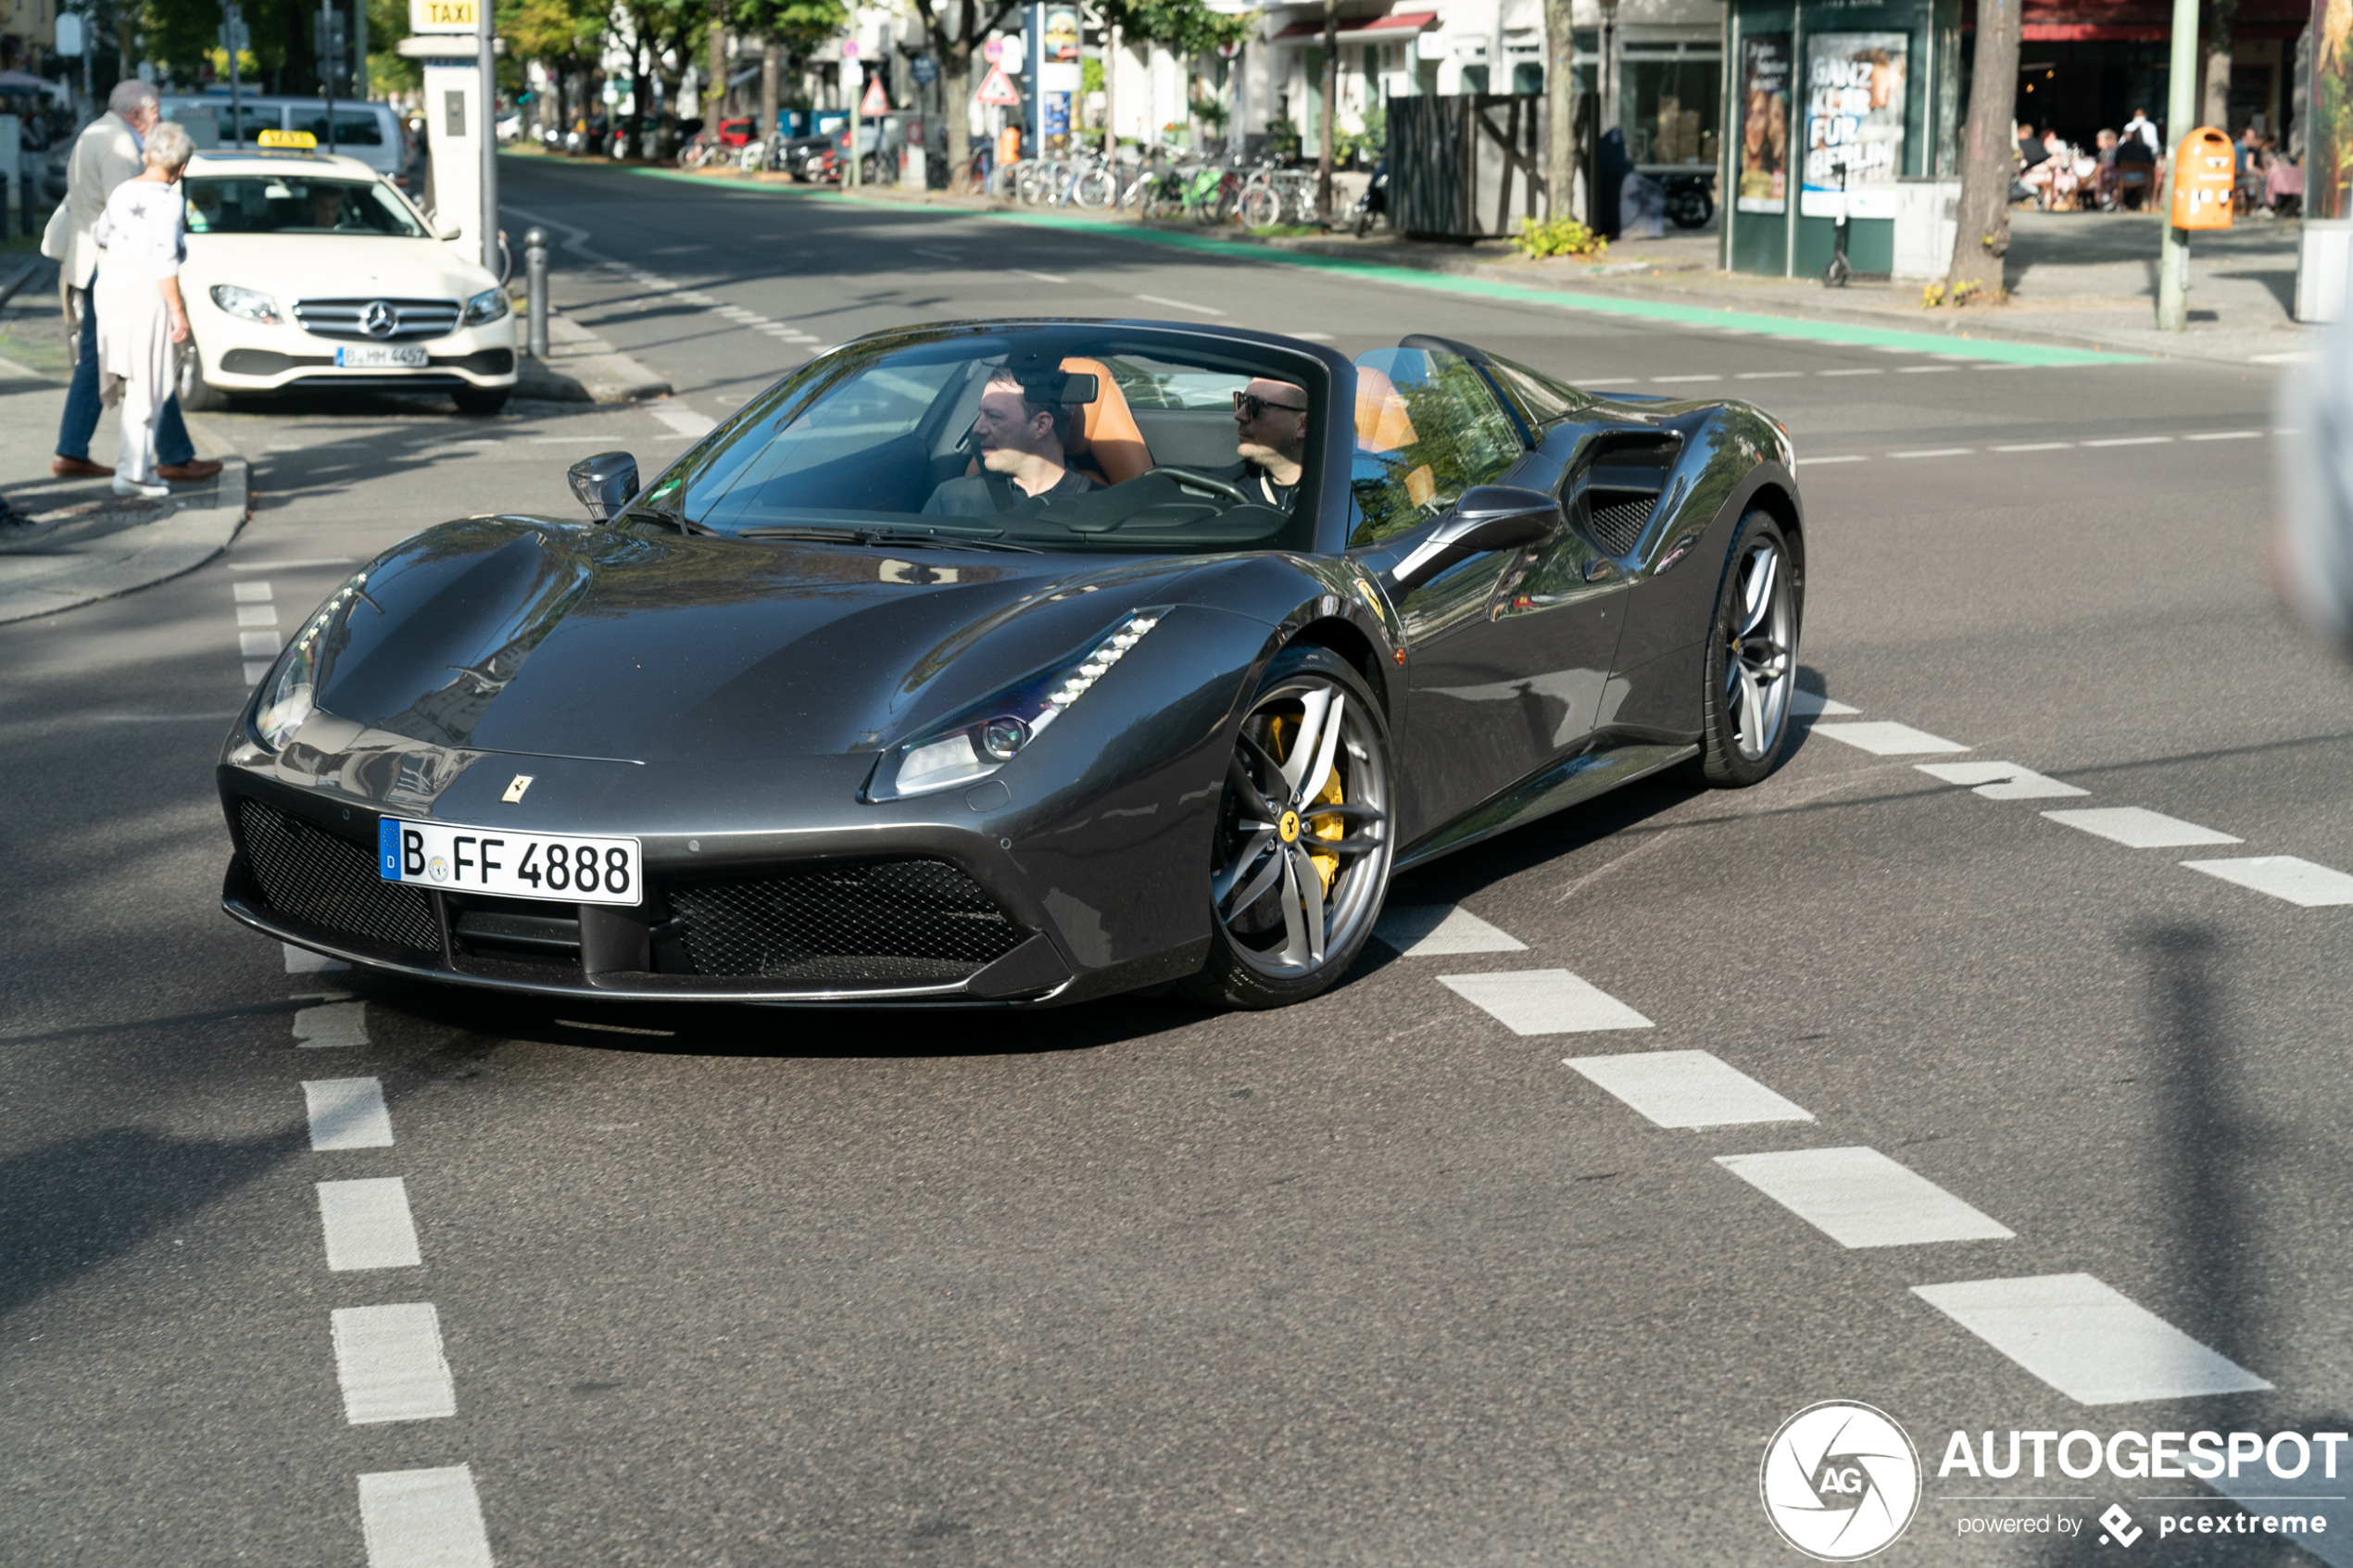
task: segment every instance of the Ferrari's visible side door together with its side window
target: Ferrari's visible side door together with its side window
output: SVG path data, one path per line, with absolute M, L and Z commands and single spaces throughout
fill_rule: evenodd
M 1560 461 L 1522 444 L 1475 364 L 1435 348 L 1358 360 L 1353 545 L 1409 538 L 1473 484 L 1553 491 Z M 1405 839 L 1471 811 L 1593 729 L 1617 639 L 1617 583 L 1584 536 L 1457 562 L 1398 595 L 1409 708 L 1398 736 Z

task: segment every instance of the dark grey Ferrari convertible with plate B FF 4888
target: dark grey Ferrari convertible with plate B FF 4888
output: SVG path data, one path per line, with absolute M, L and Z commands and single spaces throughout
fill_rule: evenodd
M 301 625 L 233 917 L 539 994 L 1278 1006 L 1400 867 L 1788 729 L 1784 428 L 1466 343 L 913 327 L 572 487 Z

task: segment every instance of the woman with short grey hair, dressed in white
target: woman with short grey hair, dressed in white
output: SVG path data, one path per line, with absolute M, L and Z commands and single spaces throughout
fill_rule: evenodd
M 106 263 L 96 277 L 99 397 L 122 404 L 118 496 L 169 496 L 155 477 L 155 425 L 176 374 L 176 343 L 188 341 L 179 263 L 188 256 L 186 197 L 179 174 L 195 155 L 188 132 L 169 120 L 146 134 L 146 172 L 115 186 L 99 219 Z

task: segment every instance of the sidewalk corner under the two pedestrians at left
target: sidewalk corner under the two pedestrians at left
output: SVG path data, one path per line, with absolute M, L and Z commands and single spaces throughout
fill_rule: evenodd
M 52 292 L 26 287 L 0 310 L 0 350 L 31 360 L 0 357 L 0 496 L 35 524 L 0 531 L 0 623 L 162 583 L 228 548 L 252 494 L 247 461 L 216 428 L 188 421 L 198 454 L 221 461 L 219 477 L 179 484 L 167 501 L 118 496 L 106 480 L 52 480 L 66 411 L 66 331 Z M 115 449 L 111 409 L 89 449 L 99 461 Z

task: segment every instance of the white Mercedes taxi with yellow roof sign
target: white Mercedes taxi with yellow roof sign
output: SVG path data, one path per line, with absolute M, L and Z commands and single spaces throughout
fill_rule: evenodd
M 296 146 L 188 162 L 188 409 L 238 393 L 447 393 L 496 414 L 515 388 L 515 315 L 499 280 L 435 237 L 398 186 Z

